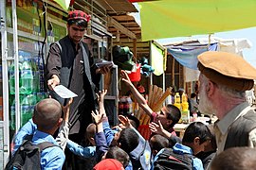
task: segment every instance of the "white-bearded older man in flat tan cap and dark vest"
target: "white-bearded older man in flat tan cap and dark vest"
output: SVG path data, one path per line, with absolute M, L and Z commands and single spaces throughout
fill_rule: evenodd
M 214 125 L 217 154 L 234 146 L 255 147 L 256 113 L 247 102 L 246 91 L 254 86 L 256 69 L 226 52 L 205 52 L 198 61 L 198 109 L 218 118 Z

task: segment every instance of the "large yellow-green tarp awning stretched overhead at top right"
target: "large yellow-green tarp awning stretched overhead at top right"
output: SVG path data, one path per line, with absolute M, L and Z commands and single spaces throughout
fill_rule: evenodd
M 256 26 L 256 0 L 160 0 L 139 6 L 143 41 Z

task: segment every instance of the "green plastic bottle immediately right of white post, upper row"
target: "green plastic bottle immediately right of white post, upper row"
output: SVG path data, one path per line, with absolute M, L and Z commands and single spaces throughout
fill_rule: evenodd
M 23 63 L 21 66 L 20 93 L 23 93 L 23 94 L 30 94 L 32 93 L 32 90 L 33 90 L 33 73 L 32 73 L 31 65 L 29 63 L 29 59 L 27 57 L 24 57 Z

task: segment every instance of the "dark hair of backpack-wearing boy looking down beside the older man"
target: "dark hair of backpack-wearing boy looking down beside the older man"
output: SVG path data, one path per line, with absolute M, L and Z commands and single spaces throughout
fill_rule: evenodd
M 203 144 L 207 140 L 210 140 L 210 129 L 202 122 L 192 122 L 189 127 L 186 128 L 182 139 L 182 144 L 193 143 L 194 138 L 199 137 L 199 144 Z

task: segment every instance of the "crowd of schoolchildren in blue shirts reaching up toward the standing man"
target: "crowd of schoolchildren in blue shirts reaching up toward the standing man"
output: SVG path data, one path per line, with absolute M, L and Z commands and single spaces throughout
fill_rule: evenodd
M 151 116 L 149 125 L 152 135 L 145 140 L 137 131 L 139 121 L 132 115 L 119 115 L 119 126 L 110 127 L 104 109 L 106 90 L 98 94 L 99 110 L 92 111 L 93 123 L 86 127 L 84 138 L 90 144 L 82 146 L 68 139 L 69 112 L 73 99 L 62 106 L 54 99 L 42 100 L 35 106 L 33 118 L 15 136 L 14 150 L 23 144 L 27 135 L 33 135 L 32 142 L 38 144 L 48 141 L 58 145 L 42 151 L 42 169 L 63 169 L 64 150 L 89 160 L 85 169 L 195 169 L 203 170 L 211 166 L 217 146 L 213 127 L 201 122 L 192 122 L 185 130 L 183 138 L 176 136 L 174 125 L 178 123 L 181 112 L 174 105 L 164 106 L 154 112 L 145 98 L 137 91 L 126 72 L 121 71 L 123 82 L 130 88 L 138 105 Z M 192 94 L 192 99 L 194 98 Z M 197 110 L 197 105 L 192 105 Z M 61 112 L 64 118 L 61 118 Z M 59 128 L 57 137 L 53 138 Z M 222 156 L 222 155 L 220 155 Z M 224 156 L 222 156 L 224 157 Z M 212 162 L 212 169 L 223 167 L 218 159 Z

